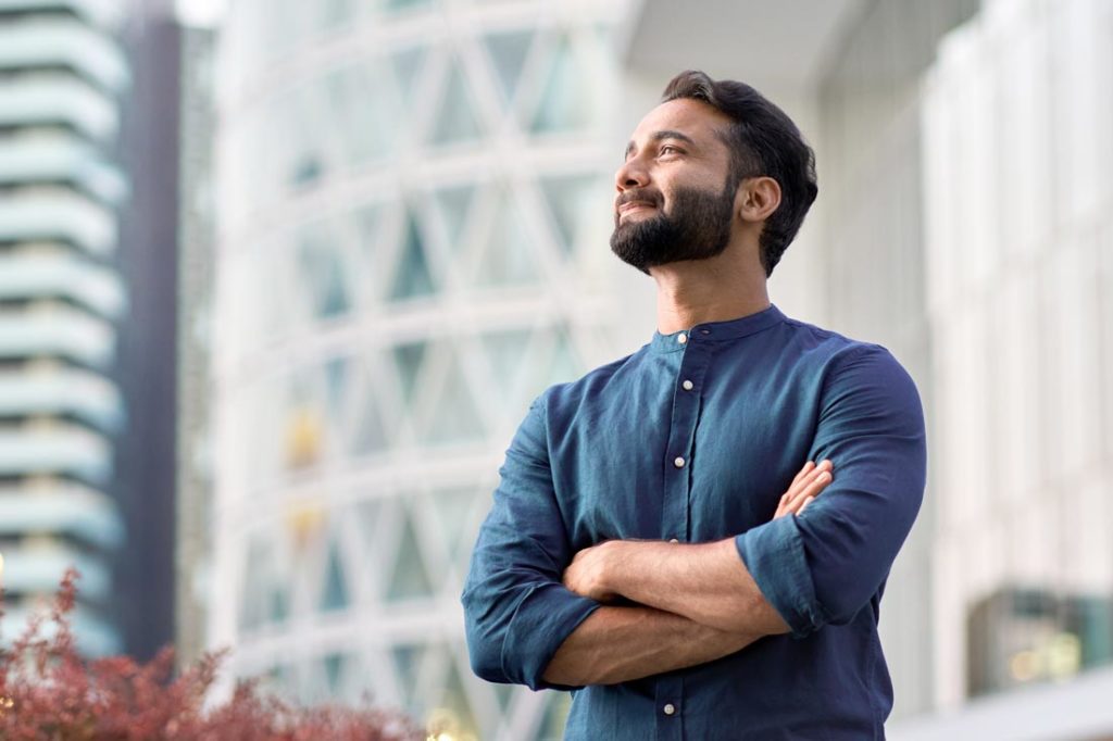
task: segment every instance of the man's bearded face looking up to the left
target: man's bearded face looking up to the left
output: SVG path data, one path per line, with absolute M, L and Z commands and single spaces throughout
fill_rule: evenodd
M 715 257 L 730 241 L 737 182 L 718 131 L 730 120 L 698 100 L 670 100 L 641 120 L 614 176 L 611 250 L 649 268 Z

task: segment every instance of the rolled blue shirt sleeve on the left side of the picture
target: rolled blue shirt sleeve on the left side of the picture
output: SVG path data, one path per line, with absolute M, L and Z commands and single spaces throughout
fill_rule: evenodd
M 571 546 L 556 506 L 543 397 L 519 427 L 462 595 L 472 669 L 491 682 L 572 689 L 542 679 L 560 645 L 599 609 L 564 587 Z

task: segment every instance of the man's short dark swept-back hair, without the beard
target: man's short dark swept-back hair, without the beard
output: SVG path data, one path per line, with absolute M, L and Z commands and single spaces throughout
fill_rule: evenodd
M 677 75 L 661 102 L 678 98 L 702 100 L 731 118 L 722 132 L 730 148 L 730 182 L 767 176 L 780 185 L 780 206 L 766 219 L 759 246 L 766 277 L 780 261 L 816 199 L 816 155 L 785 111 L 760 92 L 735 80 L 712 80 L 699 70 Z

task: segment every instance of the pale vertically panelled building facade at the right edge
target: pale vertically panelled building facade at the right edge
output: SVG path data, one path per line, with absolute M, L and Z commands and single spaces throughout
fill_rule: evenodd
M 1111 10 L 986 2 L 925 86 L 945 708 L 1113 661 Z

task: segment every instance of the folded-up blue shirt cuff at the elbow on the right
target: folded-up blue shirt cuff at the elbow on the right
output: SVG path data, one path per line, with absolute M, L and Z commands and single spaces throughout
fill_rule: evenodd
M 816 601 L 804 541 L 795 515 L 771 520 L 735 537 L 738 555 L 766 601 L 804 638 L 827 621 Z

